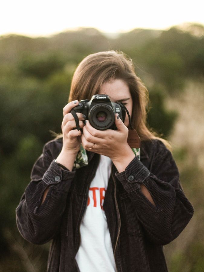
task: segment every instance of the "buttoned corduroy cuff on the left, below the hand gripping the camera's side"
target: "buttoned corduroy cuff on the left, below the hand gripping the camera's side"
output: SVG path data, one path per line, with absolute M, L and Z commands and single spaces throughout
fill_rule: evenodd
M 76 171 L 62 169 L 55 160 L 53 160 L 44 173 L 43 181 L 47 185 L 52 185 L 53 189 L 68 192 L 75 173 Z

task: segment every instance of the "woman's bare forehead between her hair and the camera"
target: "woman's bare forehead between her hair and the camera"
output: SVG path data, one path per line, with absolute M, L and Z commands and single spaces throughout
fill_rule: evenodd
M 114 79 L 110 82 L 103 83 L 99 94 L 106 94 L 115 100 L 125 99 L 131 96 L 128 85 L 121 79 Z

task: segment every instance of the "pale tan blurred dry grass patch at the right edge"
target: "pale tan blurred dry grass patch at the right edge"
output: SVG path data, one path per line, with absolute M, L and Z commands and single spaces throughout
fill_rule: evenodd
M 173 148 L 190 150 L 188 163 L 204 165 L 204 82 L 186 83 L 184 92 L 168 99 L 167 106 L 179 112 L 179 118 L 170 138 Z

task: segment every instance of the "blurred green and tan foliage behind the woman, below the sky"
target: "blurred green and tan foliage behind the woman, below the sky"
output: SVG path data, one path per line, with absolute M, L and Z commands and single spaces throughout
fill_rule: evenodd
M 195 215 L 165 246 L 169 270 L 204 271 L 204 26 L 134 29 L 115 37 L 93 28 L 52 37 L 0 37 L 0 271 L 45 271 L 49 243 L 25 241 L 15 208 L 51 131 L 61 132 L 73 72 L 90 53 L 118 50 L 149 90 L 148 124 L 171 141 Z

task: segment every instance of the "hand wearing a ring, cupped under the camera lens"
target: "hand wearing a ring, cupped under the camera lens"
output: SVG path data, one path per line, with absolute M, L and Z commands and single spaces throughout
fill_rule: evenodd
M 127 143 L 128 128 L 115 114 L 115 125 L 117 130 L 106 129 L 104 131 L 93 128 L 89 121 L 86 120 L 86 125 L 83 127 L 81 136 L 83 147 L 101 155 L 109 157 L 111 160 L 119 160 L 120 157 L 126 156 L 130 152 L 131 147 Z M 93 149 L 89 149 L 92 147 Z

